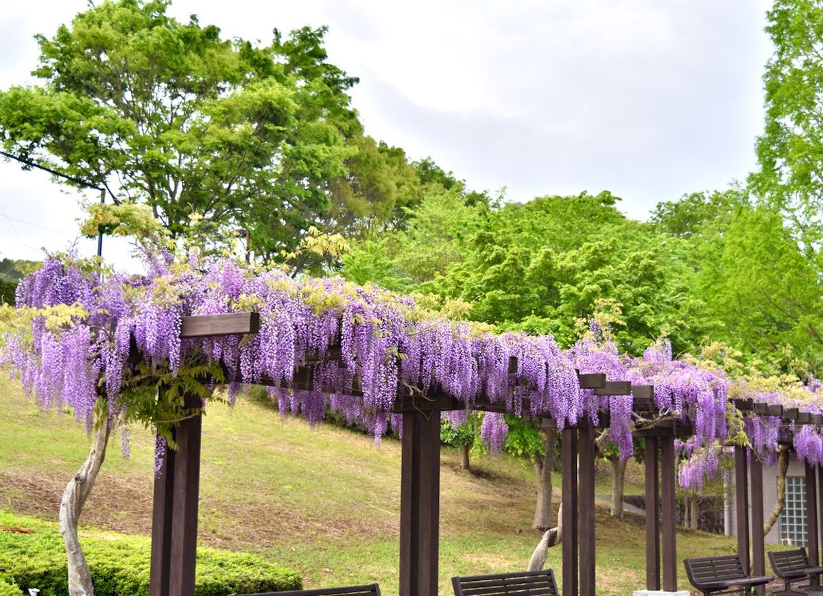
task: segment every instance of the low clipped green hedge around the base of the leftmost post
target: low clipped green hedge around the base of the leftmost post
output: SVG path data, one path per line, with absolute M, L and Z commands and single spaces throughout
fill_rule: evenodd
M 2 582 L 39 588 L 40 596 L 67 596 L 66 551 L 58 524 L 0 511 L 0 526 L 33 529 L 31 534 L 0 531 L 0 596 Z M 82 535 L 96 596 L 148 594 L 151 540 L 125 534 Z M 247 553 L 198 547 L 195 594 L 226 596 L 300 589 L 295 571 Z M 20 589 L 15 594 L 21 594 Z

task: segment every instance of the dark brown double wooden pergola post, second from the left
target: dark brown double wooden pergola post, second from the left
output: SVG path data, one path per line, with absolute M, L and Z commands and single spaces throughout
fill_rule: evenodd
M 400 596 L 437 596 L 440 413 L 403 414 Z

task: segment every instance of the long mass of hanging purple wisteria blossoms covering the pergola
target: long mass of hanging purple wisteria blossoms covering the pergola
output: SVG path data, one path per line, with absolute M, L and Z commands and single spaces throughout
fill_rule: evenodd
M 685 486 L 716 473 L 716 447 L 728 439 L 731 381 L 718 368 L 672 358 L 667 342 L 629 358 L 593 329 L 562 351 L 551 336 L 479 330 L 427 312 L 412 298 L 338 278 L 293 280 L 280 270 L 253 272 L 193 255 L 184 264 L 152 261 L 148 275 L 100 279 L 94 268 L 50 257 L 21 282 L 16 301 L 28 324 L 7 334 L 0 362 L 12 365 L 43 407 L 68 405 L 88 427 L 100 399 L 116 421 L 129 415 L 133 392 L 156 385 L 157 376 L 209 365 L 225 372 L 230 400 L 241 383 L 264 384 L 282 413 L 317 423 L 330 408 L 375 437 L 399 430 L 398 399 L 414 404 L 438 393 L 466 410 L 482 402 L 510 414 L 550 416 L 558 428 L 607 419 L 625 460 L 635 425 L 649 421 L 634 418 L 631 395 L 581 390 L 579 371 L 653 385 L 659 416 L 694 425 L 681 451 L 690 458 L 681 466 Z M 180 338 L 184 316 L 249 311 L 261 316 L 256 334 Z M 807 384 L 767 397 L 820 414 L 818 389 Z M 746 395 L 745 387 L 736 391 Z M 464 418 L 451 414 L 455 423 Z M 748 417 L 742 424 L 758 456 L 774 454 L 779 419 Z M 505 433 L 502 414 L 484 416 L 481 436 L 493 448 L 500 449 Z M 823 463 L 814 428 L 796 429 L 793 437 L 798 456 Z M 161 437 L 158 445 L 165 448 Z

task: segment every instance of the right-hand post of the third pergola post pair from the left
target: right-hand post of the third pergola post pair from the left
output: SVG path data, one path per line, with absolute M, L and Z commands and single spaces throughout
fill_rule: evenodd
M 594 428 L 580 427 L 578 469 L 578 521 L 580 552 L 580 592 L 594 596 Z M 565 531 L 565 528 L 564 528 Z

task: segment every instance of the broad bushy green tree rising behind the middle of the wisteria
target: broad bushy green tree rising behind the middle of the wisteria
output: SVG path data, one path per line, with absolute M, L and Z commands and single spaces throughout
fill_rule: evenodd
M 474 318 L 564 345 L 604 299 L 622 307 L 616 340 L 627 351 L 642 353 L 663 332 L 690 342 L 678 316 L 687 270 L 677 239 L 626 219 L 616 200 L 584 192 L 491 210 L 436 290 L 471 303 Z

